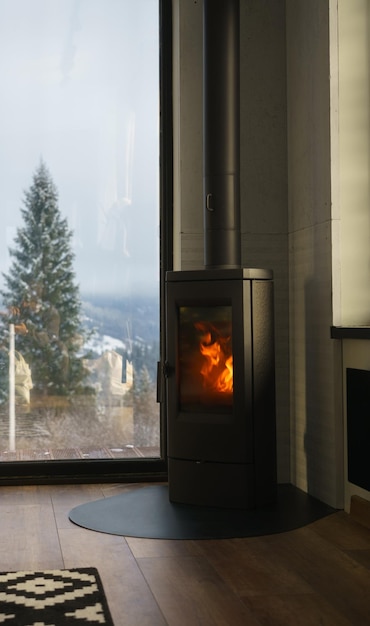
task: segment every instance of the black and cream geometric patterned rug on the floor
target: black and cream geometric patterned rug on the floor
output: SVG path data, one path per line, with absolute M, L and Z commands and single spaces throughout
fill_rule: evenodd
M 0 624 L 113 626 L 93 567 L 0 573 Z

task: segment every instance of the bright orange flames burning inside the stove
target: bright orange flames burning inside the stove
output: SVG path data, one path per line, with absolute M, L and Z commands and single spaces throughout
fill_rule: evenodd
M 223 337 L 214 327 L 203 322 L 195 324 L 200 331 L 200 353 L 205 357 L 200 373 L 203 385 L 219 393 L 233 391 L 233 357 L 231 337 Z

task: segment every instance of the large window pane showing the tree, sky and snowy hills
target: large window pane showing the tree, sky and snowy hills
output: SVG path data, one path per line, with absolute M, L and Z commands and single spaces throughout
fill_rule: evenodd
M 0 5 L 2 461 L 159 456 L 158 13 Z

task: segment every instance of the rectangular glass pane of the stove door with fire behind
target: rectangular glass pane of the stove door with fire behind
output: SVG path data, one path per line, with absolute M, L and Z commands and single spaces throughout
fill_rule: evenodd
M 233 403 L 231 306 L 179 308 L 179 398 L 183 411 Z

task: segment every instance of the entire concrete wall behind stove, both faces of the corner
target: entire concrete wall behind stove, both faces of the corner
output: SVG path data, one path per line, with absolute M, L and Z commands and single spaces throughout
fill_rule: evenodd
M 202 2 L 173 6 L 175 259 L 177 269 L 197 269 Z M 340 342 L 330 339 L 329 0 L 240 6 L 242 254 L 245 266 L 269 267 L 275 276 L 278 479 L 341 506 L 342 372 Z

